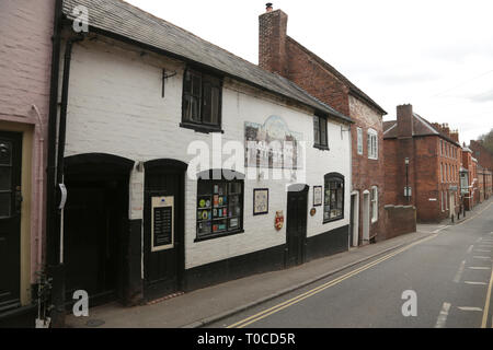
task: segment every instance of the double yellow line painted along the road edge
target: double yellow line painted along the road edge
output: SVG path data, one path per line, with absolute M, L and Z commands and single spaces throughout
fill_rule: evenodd
M 365 265 L 363 267 L 357 268 L 356 270 L 353 270 L 353 271 L 351 271 L 351 272 L 348 272 L 346 275 L 343 275 L 343 276 L 341 276 L 341 277 L 339 277 L 339 278 L 330 281 L 330 282 L 326 282 L 326 283 L 321 284 L 321 285 L 319 285 L 317 288 L 313 288 L 312 290 L 309 290 L 308 292 L 305 292 L 305 293 L 302 293 L 302 294 L 300 294 L 298 296 L 295 296 L 295 298 L 293 298 L 293 299 L 290 299 L 288 301 L 285 301 L 285 302 L 283 302 L 280 304 L 277 304 L 277 305 L 275 305 L 275 306 L 273 306 L 271 308 L 264 310 L 263 312 L 260 312 L 260 313 L 257 313 L 257 314 L 255 314 L 253 316 L 250 316 L 250 317 L 248 317 L 245 319 L 242 319 L 242 320 L 240 320 L 240 322 L 238 322 L 238 323 L 236 323 L 233 325 L 228 326 L 227 328 L 244 328 L 244 327 L 246 327 L 246 326 L 249 326 L 249 325 L 251 325 L 251 324 L 253 324 L 255 322 L 259 322 L 259 320 L 261 320 L 261 319 L 263 319 L 265 317 L 268 317 L 268 316 L 271 316 L 271 315 L 273 315 L 275 313 L 278 313 L 282 310 L 285 310 L 286 307 L 295 305 L 295 304 L 303 301 L 307 298 L 313 296 L 313 295 L 316 295 L 316 294 L 326 290 L 328 288 L 331 288 L 331 287 L 333 287 L 335 284 L 339 284 L 342 281 L 344 281 L 344 280 L 346 280 L 346 279 L 348 279 L 348 278 L 351 278 L 353 276 L 356 276 L 356 275 L 358 275 L 358 273 L 360 273 L 360 272 L 363 272 L 363 271 L 365 271 L 365 270 L 367 270 L 367 269 L 369 269 L 369 268 L 371 268 L 371 267 L 374 267 L 374 266 L 376 266 L 376 265 L 378 265 L 380 262 L 383 262 L 385 260 L 388 260 L 388 259 L 394 257 L 395 255 L 401 254 L 402 252 L 405 252 L 405 250 L 412 248 L 413 246 L 415 246 L 417 244 L 421 244 L 421 243 L 424 243 L 424 242 L 429 241 L 432 238 L 435 238 L 437 235 L 438 234 L 433 234 L 433 235 L 431 235 L 428 237 L 425 237 L 425 238 L 422 238 L 420 241 L 416 241 L 416 242 L 414 242 L 414 243 L 412 243 L 412 244 L 410 244 L 410 245 L 408 245 L 408 246 L 405 246 L 403 248 L 399 248 L 398 250 L 394 250 L 394 252 L 392 252 L 392 253 L 390 253 L 388 255 L 385 255 L 381 258 L 378 258 L 377 260 L 374 260 L 374 261 L 371 261 L 371 262 L 369 262 L 369 264 L 367 264 L 367 265 Z

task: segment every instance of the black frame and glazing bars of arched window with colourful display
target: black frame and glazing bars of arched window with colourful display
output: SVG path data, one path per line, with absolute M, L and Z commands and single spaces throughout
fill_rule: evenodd
M 225 171 L 206 171 L 203 172 L 202 174 L 199 174 L 199 176 L 197 177 L 197 201 L 196 201 L 196 206 L 195 206 L 195 241 L 194 242 L 204 242 L 204 241 L 210 241 L 210 240 L 216 240 L 216 238 L 220 238 L 220 237 L 226 237 L 226 236 L 231 236 L 231 235 L 236 235 L 236 234 L 241 234 L 244 233 L 244 175 L 240 174 L 240 173 L 236 173 L 232 171 L 227 171 L 228 174 L 227 176 L 225 176 Z M 205 182 L 206 185 L 210 186 L 210 194 L 200 194 L 200 182 Z M 208 183 L 208 184 L 207 184 Z M 231 195 L 229 192 L 229 188 L 230 188 L 230 184 L 239 184 L 240 185 L 240 194 L 233 194 Z M 219 194 L 215 194 L 214 187 L 215 185 L 225 185 L 226 188 L 228 188 L 227 194 L 223 195 L 219 195 Z M 205 186 L 206 187 L 206 186 Z M 227 197 L 227 203 L 226 206 L 214 206 L 214 196 L 218 195 L 221 197 Z M 204 210 L 208 210 L 208 209 L 200 209 L 199 206 L 199 201 L 200 198 L 205 198 L 210 196 L 210 207 L 209 208 L 211 213 L 210 213 L 210 219 L 207 220 L 200 220 L 198 219 L 198 212 L 199 211 L 204 211 Z M 238 196 L 239 197 L 239 201 L 240 201 L 240 214 L 239 215 L 233 215 L 230 217 L 229 215 L 229 210 L 230 210 L 230 196 Z M 204 208 L 204 207 L 203 207 Z M 214 218 L 214 209 L 228 209 L 228 214 L 226 217 L 219 217 L 219 218 Z M 239 220 L 239 224 L 238 224 L 238 229 L 233 229 L 233 230 L 229 230 L 229 223 L 230 223 L 230 219 L 238 219 Z M 214 229 L 214 221 L 226 221 L 227 222 L 227 230 L 226 231 L 221 231 L 221 232 L 217 232 L 214 233 L 213 229 Z M 210 233 L 206 233 L 206 234 L 199 234 L 199 224 L 210 221 L 211 226 L 210 226 Z

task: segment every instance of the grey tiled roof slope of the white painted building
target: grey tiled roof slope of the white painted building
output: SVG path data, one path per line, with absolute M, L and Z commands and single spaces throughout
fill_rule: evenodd
M 226 75 L 294 100 L 342 121 L 353 120 L 331 106 L 311 96 L 293 82 L 255 66 L 210 44 L 164 20 L 153 16 L 122 0 L 64 0 L 64 15 L 74 20 L 72 9 L 83 5 L 89 10 L 90 31 L 111 33 L 121 38 L 157 48 L 188 62 L 195 62 Z

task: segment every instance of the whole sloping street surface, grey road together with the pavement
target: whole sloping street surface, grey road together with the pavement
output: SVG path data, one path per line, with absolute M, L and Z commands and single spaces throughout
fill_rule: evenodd
M 90 307 L 68 327 L 492 327 L 493 200 L 466 220 L 144 306 Z

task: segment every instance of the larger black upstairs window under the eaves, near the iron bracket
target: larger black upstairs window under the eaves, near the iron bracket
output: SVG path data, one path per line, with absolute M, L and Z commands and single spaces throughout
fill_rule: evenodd
M 182 127 L 219 131 L 221 127 L 221 80 L 186 70 L 183 80 Z

